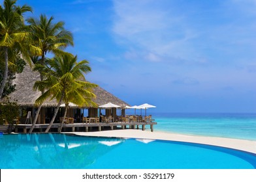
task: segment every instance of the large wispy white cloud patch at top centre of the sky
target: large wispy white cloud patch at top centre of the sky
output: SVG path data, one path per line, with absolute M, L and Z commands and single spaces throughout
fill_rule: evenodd
M 113 31 L 123 40 L 119 43 L 143 51 L 150 61 L 163 60 L 161 57 L 191 59 L 195 49 L 189 42 L 198 32 L 187 27 L 185 16 L 177 15 L 169 2 L 114 1 Z

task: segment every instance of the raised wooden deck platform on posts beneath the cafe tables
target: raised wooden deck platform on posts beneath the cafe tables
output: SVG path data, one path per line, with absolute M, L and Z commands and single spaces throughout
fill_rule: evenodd
M 116 129 L 118 127 L 121 127 L 121 129 L 126 129 L 127 126 L 132 129 L 142 129 L 144 131 L 146 129 L 146 125 L 150 125 L 150 129 L 153 132 L 153 125 L 156 125 L 157 122 L 110 122 L 110 123 L 70 123 L 70 124 L 63 124 L 62 131 L 65 131 L 67 129 L 71 129 L 72 132 L 74 131 L 82 131 L 82 132 L 88 132 L 92 131 L 93 129 L 97 128 L 98 131 L 101 131 L 103 129 Z M 39 132 L 44 132 L 44 130 L 48 127 L 49 124 L 36 124 L 35 129 L 39 129 Z M 23 133 L 27 133 L 27 129 L 31 128 L 31 124 L 18 124 L 14 125 L 15 132 L 19 132 L 21 129 Z M 59 131 L 59 128 L 61 127 L 60 123 L 54 123 L 52 125 L 52 129 L 57 129 Z

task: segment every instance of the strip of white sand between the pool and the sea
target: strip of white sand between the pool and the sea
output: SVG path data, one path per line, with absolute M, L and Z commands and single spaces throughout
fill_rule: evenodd
M 209 144 L 213 146 L 222 146 L 226 148 L 240 149 L 256 153 L 256 141 L 239 140 L 233 138 L 219 138 L 210 136 L 192 136 L 192 135 L 179 135 L 174 133 L 151 132 L 141 131 L 138 129 L 123 129 L 111 131 L 95 131 L 95 132 L 73 132 L 76 135 L 82 136 L 114 136 L 122 138 L 146 138 L 146 139 L 159 139 L 159 140 L 174 140 L 180 142 L 193 142 L 199 144 Z

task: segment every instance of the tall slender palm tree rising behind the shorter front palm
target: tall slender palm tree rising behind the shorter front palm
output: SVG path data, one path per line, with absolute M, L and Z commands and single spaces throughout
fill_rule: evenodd
M 45 15 L 41 14 L 39 19 L 29 18 L 29 32 L 31 32 L 31 39 L 33 45 L 40 49 L 41 54 L 39 57 L 33 57 L 33 61 L 40 62 L 41 65 L 45 64 L 46 53 L 54 53 L 55 55 L 63 54 L 63 49 L 68 45 L 74 45 L 72 34 L 64 29 L 64 22 L 53 22 L 54 18 L 51 16 L 48 19 Z M 43 81 L 43 75 L 40 72 L 40 81 Z M 44 94 L 44 89 L 40 90 Z M 40 112 L 42 105 L 39 105 L 37 113 Z M 39 114 L 37 114 L 33 120 L 33 125 L 29 129 L 29 133 L 33 131 L 35 123 L 37 122 Z

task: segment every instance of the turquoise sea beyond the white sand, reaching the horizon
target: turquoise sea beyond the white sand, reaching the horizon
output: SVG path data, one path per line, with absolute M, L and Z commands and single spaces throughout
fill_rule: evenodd
M 256 140 L 256 114 L 152 113 L 155 131 Z

